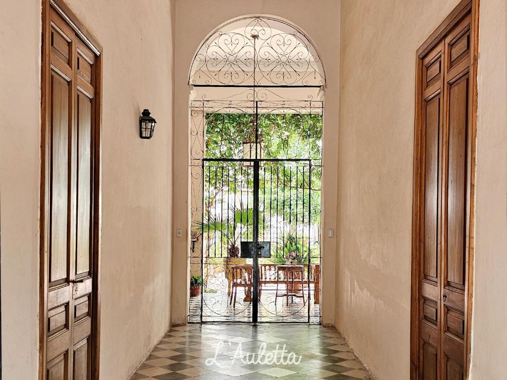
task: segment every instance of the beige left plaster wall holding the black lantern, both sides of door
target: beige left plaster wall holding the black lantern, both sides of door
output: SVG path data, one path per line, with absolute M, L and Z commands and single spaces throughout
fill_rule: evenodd
M 41 4 L 4 3 L 3 375 L 31 380 L 38 370 Z M 174 4 L 71 0 L 69 5 L 104 48 L 101 378 L 124 380 L 170 322 Z M 139 138 L 143 108 L 158 122 L 149 141 Z M 13 115 L 18 119 L 10 119 Z

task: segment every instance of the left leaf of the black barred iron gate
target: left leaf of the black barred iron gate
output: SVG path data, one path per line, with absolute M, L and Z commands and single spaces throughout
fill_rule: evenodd
M 205 236 L 202 294 L 190 307 L 201 309 L 203 322 L 251 322 L 253 259 L 253 165 L 206 162 L 202 167 Z M 200 275 L 194 268 L 192 275 Z

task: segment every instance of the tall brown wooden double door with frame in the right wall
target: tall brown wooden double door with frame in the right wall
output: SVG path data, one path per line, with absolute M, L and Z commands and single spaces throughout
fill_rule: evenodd
M 412 379 L 464 380 L 467 371 L 475 12 L 463 1 L 418 51 Z

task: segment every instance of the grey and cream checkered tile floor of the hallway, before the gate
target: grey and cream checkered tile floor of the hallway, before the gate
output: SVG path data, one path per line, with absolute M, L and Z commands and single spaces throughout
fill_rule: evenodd
M 286 350 L 283 355 L 285 363 L 280 363 L 283 345 Z M 276 358 L 269 362 L 277 346 Z M 287 355 L 291 352 L 296 359 L 301 356 L 299 364 L 286 363 Z M 214 362 L 206 362 L 213 358 Z M 195 324 L 175 327 L 165 334 L 131 380 L 371 378 L 340 333 L 333 328 Z

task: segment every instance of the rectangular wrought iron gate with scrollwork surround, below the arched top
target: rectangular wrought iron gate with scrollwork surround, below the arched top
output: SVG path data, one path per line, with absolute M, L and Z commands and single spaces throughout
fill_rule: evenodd
M 189 322 L 320 323 L 322 103 L 206 100 L 191 116 Z

